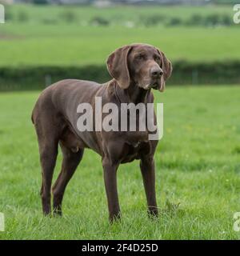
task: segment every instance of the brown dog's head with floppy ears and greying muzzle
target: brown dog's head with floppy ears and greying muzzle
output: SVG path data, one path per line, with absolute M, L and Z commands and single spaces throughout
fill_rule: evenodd
M 172 73 L 171 62 L 154 46 L 133 44 L 115 50 L 106 61 L 112 78 L 122 89 L 133 82 L 144 90 L 163 91 Z

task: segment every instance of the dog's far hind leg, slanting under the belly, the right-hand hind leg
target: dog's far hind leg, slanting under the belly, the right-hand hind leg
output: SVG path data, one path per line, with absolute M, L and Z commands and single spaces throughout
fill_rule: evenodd
M 70 178 L 72 178 L 79 162 L 82 160 L 83 149 L 73 152 L 69 147 L 64 146 L 60 142 L 62 148 L 63 160 L 62 170 L 58 175 L 56 182 L 52 188 L 54 196 L 54 214 L 62 215 L 62 198 Z

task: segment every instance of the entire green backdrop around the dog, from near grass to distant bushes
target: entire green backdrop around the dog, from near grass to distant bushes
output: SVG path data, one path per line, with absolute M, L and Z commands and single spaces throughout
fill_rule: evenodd
M 2 0 L 0 0 L 2 1 Z M 0 24 L 0 239 L 239 239 L 240 24 L 227 0 L 5 0 Z M 139 162 L 121 165 L 122 222 L 109 226 L 101 158 L 86 150 L 64 218 L 42 218 L 41 91 L 64 78 L 106 82 L 106 58 L 145 42 L 173 62 L 155 154 L 159 222 L 146 214 Z M 61 169 L 59 149 L 54 180 Z M 143 225 L 142 225 L 143 224 Z

